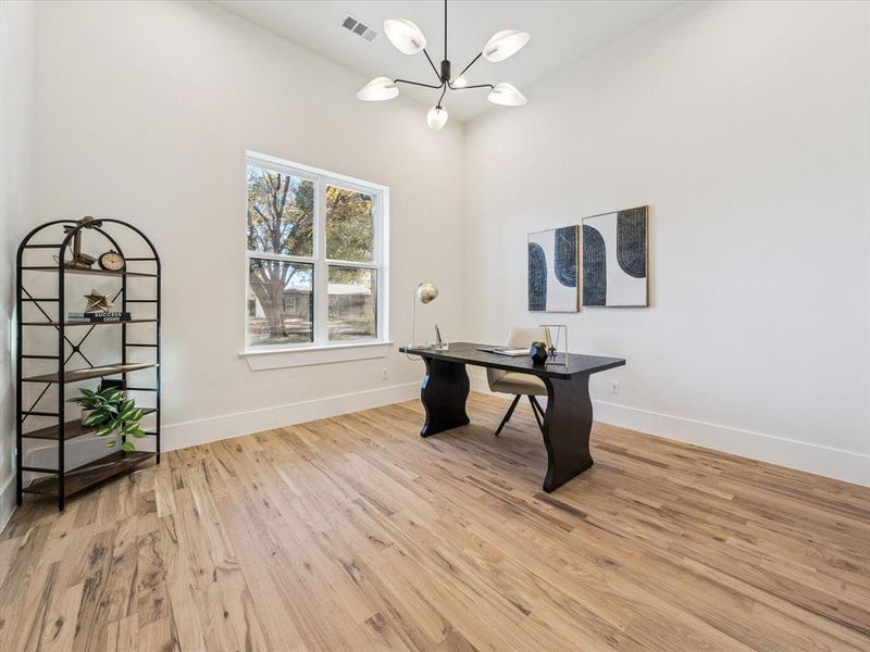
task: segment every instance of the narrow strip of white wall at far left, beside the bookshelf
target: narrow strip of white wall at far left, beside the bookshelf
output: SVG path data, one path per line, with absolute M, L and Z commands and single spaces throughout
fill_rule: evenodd
M 28 220 L 32 214 L 35 26 L 33 2 L 0 3 L 0 529 L 15 504 L 13 222 Z

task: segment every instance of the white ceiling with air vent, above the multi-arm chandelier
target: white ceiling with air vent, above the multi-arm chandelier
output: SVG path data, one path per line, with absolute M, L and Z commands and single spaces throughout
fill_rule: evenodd
M 426 50 L 435 64 L 444 54 L 444 4 L 439 0 L 295 1 L 213 0 L 251 23 L 288 38 L 365 77 L 387 76 L 432 84 L 435 73 L 423 54 L 408 57 L 396 50 L 383 34 L 384 20 L 409 18 L 426 36 Z M 501 63 L 477 61 L 465 77 L 469 84 L 510 82 L 534 101 L 530 88 L 570 63 L 649 22 L 679 4 L 675 0 L 518 2 L 489 0 L 448 4 L 449 59 L 458 74 L 501 29 L 521 29 L 532 40 Z M 350 13 L 378 35 L 368 42 L 341 27 Z M 434 82 L 437 83 L 437 82 Z M 439 91 L 402 85 L 402 95 L 425 106 L 435 104 Z M 358 88 L 348 88 L 356 95 Z M 444 106 L 450 117 L 468 122 L 494 108 L 486 89 L 448 91 Z

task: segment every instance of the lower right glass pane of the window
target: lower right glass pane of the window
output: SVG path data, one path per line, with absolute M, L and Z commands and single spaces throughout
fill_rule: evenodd
M 374 269 L 330 266 L 330 339 L 377 336 Z

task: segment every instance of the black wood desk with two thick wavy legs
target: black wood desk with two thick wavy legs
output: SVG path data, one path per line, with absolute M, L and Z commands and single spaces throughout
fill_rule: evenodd
M 589 453 L 589 376 L 622 366 L 625 361 L 570 354 L 567 365 L 534 366 L 529 356 L 510 358 L 478 350 L 490 346 L 457 342 L 447 351 L 399 349 L 403 353 L 420 355 L 426 363 L 420 391 L 426 423 L 420 435 L 430 437 L 471 423 L 465 412 L 469 396 L 467 364 L 537 376 L 547 386 L 547 411 L 542 429 L 547 448 L 544 491 L 550 492 L 593 465 Z

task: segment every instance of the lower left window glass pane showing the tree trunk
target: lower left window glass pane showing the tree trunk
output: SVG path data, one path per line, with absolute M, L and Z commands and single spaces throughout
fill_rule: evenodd
M 252 258 L 248 274 L 248 343 L 314 341 L 314 265 Z

